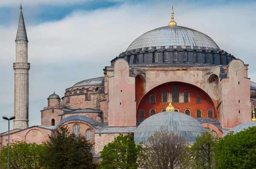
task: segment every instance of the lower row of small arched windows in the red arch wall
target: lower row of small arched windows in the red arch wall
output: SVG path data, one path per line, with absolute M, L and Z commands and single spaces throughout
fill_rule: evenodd
M 161 112 L 165 112 L 165 111 L 166 111 L 166 109 L 161 110 Z M 178 109 L 175 109 L 174 111 L 179 112 Z M 151 116 L 151 115 L 154 115 L 155 113 L 156 113 L 156 110 L 151 109 L 150 112 L 149 112 L 149 115 Z M 191 115 L 191 111 L 189 109 L 186 109 L 184 113 L 186 115 Z M 140 118 L 144 118 L 145 117 L 145 110 L 140 109 L 139 114 L 140 114 Z M 195 115 L 196 115 L 196 118 L 201 118 L 202 117 L 202 111 L 201 110 L 196 110 Z M 213 110 L 209 109 L 208 112 L 207 112 L 207 115 L 208 115 L 208 118 L 213 118 Z

